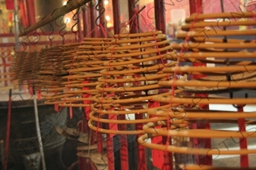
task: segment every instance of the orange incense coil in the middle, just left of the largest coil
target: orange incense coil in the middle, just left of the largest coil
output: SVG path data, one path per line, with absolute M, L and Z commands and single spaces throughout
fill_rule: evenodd
M 160 121 L 166 118 L 150 119 L 148 112 L 150 100 L 159 93 L 171 95 L 170 91 L 161 91 L 158 82 L 172 79 L 172 74 L 163 73 L 164 67 L 173 67 L 176 62 L 163 63 L 169 54 L 174 54 L 169 40 L 160 31 L 137 34 L 120 34 L 113 40 L 112 52 L 107 54 L 109 61 L 103 63 L 106 69 L 100 71 L 103 75 L 96 85 L 100 92 L 93 97 L 94 104 L 90 107 L 89 127 L 94 131 L 108 134 L 139 134 L 143 130 L 132 131 L 128 129 L 112 130 L 96 125 L 134 125 L 150 121 Z M 185 79 L 185 78 L 184 78 Z M 182 90 L 175 91 L 175 94 Z M 169 104 L 157 108 L 169 108 Z M 129 116 L 141 114 L 141 119 L 131 120 Z M 109 119 L 112 115 L 117 119 Z M 125 119 L 126 117 L 126 119 Z

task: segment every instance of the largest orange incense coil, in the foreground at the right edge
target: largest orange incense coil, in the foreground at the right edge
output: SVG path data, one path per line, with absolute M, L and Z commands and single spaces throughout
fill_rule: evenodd
M 255 90 L 256 84 L 256 66 L 253 61 L 255 58 L 256 44 L 254 40 L 251 42 L 246 39 L 241 39 L 239 36 L 255 36 L 254 29 L 246 30 L 230 30 L 228 26 L 255 26 L 255 13 L 235 13 L 231 16 L 229 13 L 223 14 L 194 14 L 188 17 L 186 24 L 182 26 L 182 30 L 186 31 L 177 35 L 179 39 L 190 38 L 184 45 L 172 45 L 172 48 L 177 50 L 173 55 L 169 55 L 169 60 L 179 60 L 180 62 L 188 63 L 213 63 L 216 66 L 174 66 L 164 68 L 163 73 L 175 73 L 180 76 L 198 75 L 206 76 L 200 79 L 172 79 L 170 81 L 160 81 L 158 85 L 165 88 L 175 87 L 182 91 L 190 93 L 201 93 L 201 96 L 186 96 L 186 95 L 158 95 L 153 97 L 154 101 L 161 103 L 173 104 L 179 107 L 171 107 L 170 109 L 151 109 L 148 114 L 151 116 L 165 117 L 169 119 L 170 128 L 155 128 L 156 124 L 153 122 L 144 125 L 144 131 L 147 134 L 138 138 L 139 144 L 151 149 L 168 151 L 171 153 L 180 153 L 186 155 L 201 155 L 211 157 L 213 155 L 240 155 L 246 156 L 255 154 L 254 148 L 232 148 L 232 150 L 219 149 L 214 150 L 213 147 L 182 147 L 179 143 L 189 141 L 191 138 L 211 139 L 217 140 L 220 138 L 239 138 L 239 139 L 254 139 L 256 134 L 249 131 L 248 128 L 239 131 L 220 130 L 219 128 L 212 129 L 190 129 L 194 123 L 200 125 L 201 123 L 218 123 L 218 125 L 237 125 L 238 123 L 254 125 L 256 112 L 234 112 L 234 111 L 220 111 L 220 110 L 206 110 L 201 108 L 205 104 L 232 104 L 234 107 L 243 107 L 245 104 L 255 104 L 255 98 L 238 97 L 226 98 L 220 97 L 222 93 L 230 93 L 232 97 L 233 92 L 242 89 Z M 235 17 L 239 19 L 244 17 L 245 21 L 229 20 L 227 21 L 204 21 L 214 18 L 230 18 Z M 229 24 L 228 24 L 229 23 Z M 194 29 L 191 29 L 193 26 Z M 205 29 L 205 26 L 209 26 Z M 217 26 L 226 26 L 226 29 L 217 29 Z M 232 27 L 234 28 L 234 27 Z M 200 34 L 205 30 L 204 36 Z M 215 34 L 213 33 L 215 32 Z M 209 33 L 209 34 L 208 34 Z M 220 34 L 219 34 L 220 33 Z M 200 35 L 198 35 L 200 34 Z M 224 40 L 221 38 L 224 36 Z M 233 36 L 232 39 L 229 36 Z M 178 52 L 180 51 L 180 52 Z M 213 57 L 213 58 L 208 58 Z M 239 60 L 240 59 L 240 60 Z M 243 59 L 243 60 L 241 60 Z M 207 96 L 207 97 L 204 97 Z M 192 108 L 185 107 L 185 104 Z M 186 122 L 187 128 L 180 128 L 175 121 L 180 120 Z M 244 121 L 244 122 L 243 122 Z M 177 128 L 178 127 L 178 128 Z M 240 125 L 239 125 L 240 128 Z M 149 138 L 156 136 L 171 136 L 173 140 L 172 145 L 150 144 L 147 141 Z M 242 141 L 241 141 L 242 142 Z M 206 169 L 223 169 L 219 167 L 204 166 Z M 182 169 L 200 169 L 198 165 L 185 165 Z M 225 168 L 226 169 L 226 168 Z M 229 168 L 227 168 L 229 169 Z M 232 169 L 232 168 L 230 168 Z M 244 169 L 244 168 L 234 168 Z M 250 168 L 248 168 L 250 169 Z

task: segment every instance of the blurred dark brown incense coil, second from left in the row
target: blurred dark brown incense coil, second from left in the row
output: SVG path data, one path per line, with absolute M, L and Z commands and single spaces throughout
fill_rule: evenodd
M 40 70 L 37 72 L 36 91 L 43 91 L 42 97 L 46 97 L 45 104 L 52 104 L 52 97 L 54 101 L 58 102 L 62 91 L 65 90 L 66 82 L 62 81 L 62 76 L 68 74 L 63 69 L 62 63 L 71 60 L 71 51 L 77 49 L 77 45 L 62 45 L 51 48 L 43 48 L 40 52 Z M 63 48 L 68 48 L 63 50 Z M 63 54 L 62 54 L 63 51 Z M 69 57 L 63 57 L 69 55 Z

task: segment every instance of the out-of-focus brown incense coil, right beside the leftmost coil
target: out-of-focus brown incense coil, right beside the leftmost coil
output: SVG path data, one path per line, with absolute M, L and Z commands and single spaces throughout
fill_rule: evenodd
M 46 94 L 43 94 L 43 97 L 46 97 L 45 104 L 61 103 L 60 99 L 63 97 L 63 92 L 69 83 L 62 79 L 62 77 L 69 74 L 64 65 L 74 60 L 75 51 L 79 45 L 79 43 L 74 43 L 51 48 L 42 56 L 44 59 L 39 74 L 40 85 L 43 87 L 43 91 L 46 92 Z M 51 65 L 46 68 L 44 65 L 48 65 L 49 62 L 51 62 Z M 50 70 L 52 70 L 52 73 Z

